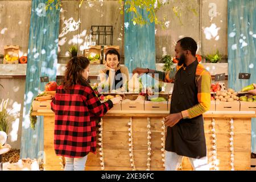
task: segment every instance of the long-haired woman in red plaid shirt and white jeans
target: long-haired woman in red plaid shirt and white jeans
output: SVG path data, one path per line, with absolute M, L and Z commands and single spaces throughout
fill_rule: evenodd
M 65 157 L 65 171 L 82 171 L 89 152 L 96 153 L 96 121 L 121 98 L 101 104 L 86 81 L 89 60 L 73 57 L 67 64 L 63 84 L 57 87 L 51 109 L 55 112 L 54 148 Z

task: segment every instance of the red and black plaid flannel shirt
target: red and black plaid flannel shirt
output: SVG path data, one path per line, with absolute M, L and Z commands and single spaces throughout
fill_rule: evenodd
M 73 85 L 70 90 L 58 86 L 51 109 L 55 113 L 54 148 L 56 155 L 69 158 L 96 153 L 96 121 L 110 108 L 112 101 L 101 104 L 90 86 Z

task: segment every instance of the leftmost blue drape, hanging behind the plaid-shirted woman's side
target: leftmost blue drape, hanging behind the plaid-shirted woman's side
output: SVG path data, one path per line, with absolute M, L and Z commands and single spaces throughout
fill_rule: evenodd
M 49 81 L 56 81 L 60 9 L 56 9 L 53 3 L 52 8 L 46 10 L 46 2 L 47 0 L 33 0 L 31 5 L 20 158 L 42 158 L 43 118 L 38 117 L 35 130 L 32 130 L 30 107 L 32 98 L 37 96 L 39 91 L 43 91 L 46 85 L 40 82 L 40 77 L 48 76 Z

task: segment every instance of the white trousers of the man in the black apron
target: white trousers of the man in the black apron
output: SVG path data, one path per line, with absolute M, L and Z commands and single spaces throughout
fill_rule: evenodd
M 166 162 L 165 162 L 165 171 L 176 171 L 179 168 L 182 162 L 183 156 L 177 155 L 175 152 L 166 151 Z M 207 156 L 195 159 L 188 158 L 191 162 L 191 165 L 196 171 L 209 171 L 209 164 Z

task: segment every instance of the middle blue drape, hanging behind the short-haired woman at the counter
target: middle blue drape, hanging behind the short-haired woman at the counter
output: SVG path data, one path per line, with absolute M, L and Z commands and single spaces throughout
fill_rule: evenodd
M 125 6 L 125 65 L 131 73 L 137 67 L 155 69 L 155 23 L 144 26 L 133 23 L 133 13 L 126 13 Z M 146 10 L 137 8 L 143 18 L 148 20 Z M 142 81 L 151 82 L 151 77 L 142 77 Z

